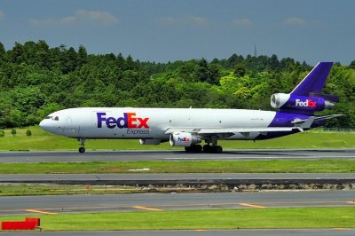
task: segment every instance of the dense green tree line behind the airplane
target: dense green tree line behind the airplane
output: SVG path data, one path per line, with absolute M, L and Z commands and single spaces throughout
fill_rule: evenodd
M 0 43 L 0 128 L 26 127 L 53 111 L 78 106 L 209 107 L 271 110 L 312 69 L 276 55 L 167 63 L 114 53 L 88 54 L 65 45 Z M 355 60 L 335 63 L 324 89 L 341 102 L 319 114 L 345 114 L 328 127 L 355 127 Z

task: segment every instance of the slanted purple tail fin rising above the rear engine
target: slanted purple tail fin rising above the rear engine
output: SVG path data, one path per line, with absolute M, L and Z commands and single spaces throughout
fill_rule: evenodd
M 290 94 L 299 96 L 309 96 L 310 93 L 320 93 L 327 81 L 327 75 L 333 66 L 333 62 L 319 62 L 312 71 L 304 77 L 295 90 Z

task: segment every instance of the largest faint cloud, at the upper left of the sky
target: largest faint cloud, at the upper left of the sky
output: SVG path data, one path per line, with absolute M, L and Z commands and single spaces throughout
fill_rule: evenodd
M 118 24 L 119 20 L 108 12 L 78 10 L 72 16 L 62 17 L 59 19 L 30 19 L 28 22 L 33 27 L 56 27 L 76 24 L 112 26 Z

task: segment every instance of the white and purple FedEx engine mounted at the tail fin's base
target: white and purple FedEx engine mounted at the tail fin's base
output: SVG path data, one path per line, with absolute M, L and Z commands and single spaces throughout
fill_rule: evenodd
M 324 98 L 275 93 L 272 94 L 271 105 L 273 108 L 279 109 L 317 112 L 335 106 L 335 103 Z

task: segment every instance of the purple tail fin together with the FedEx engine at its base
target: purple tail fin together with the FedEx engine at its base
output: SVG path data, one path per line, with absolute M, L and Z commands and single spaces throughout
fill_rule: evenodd
M 312 115 L 339 102 L 336 95 L 321 94 L 333 62 L 319 62 L 290 93 L 272 94 L 271 105 L 282 112 Z

